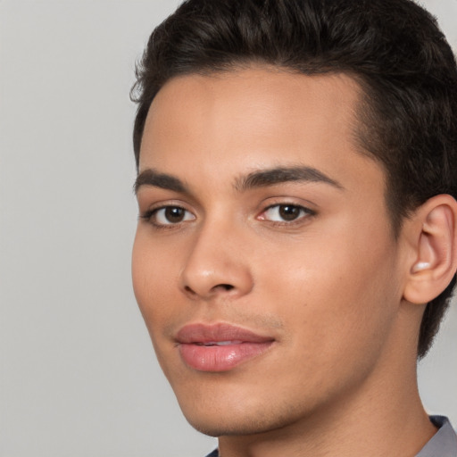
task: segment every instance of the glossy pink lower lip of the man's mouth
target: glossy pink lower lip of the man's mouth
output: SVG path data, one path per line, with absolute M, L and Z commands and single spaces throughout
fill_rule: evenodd
M 221 346 L 180 344 L 179 353 L 182 360 L 194 370 L 219 372 L 232 370 L 240 363 L 258 357 L 272 344 L 272 341 Z

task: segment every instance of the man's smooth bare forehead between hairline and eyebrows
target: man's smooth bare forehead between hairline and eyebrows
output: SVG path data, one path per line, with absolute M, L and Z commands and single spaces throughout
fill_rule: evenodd
M 300 164 L 351 179 L 378 167 L 355 139 L 360 93 L 345 74 L 262 67 L 170 79 L 150 107 L 139 170 L 210 182 Z

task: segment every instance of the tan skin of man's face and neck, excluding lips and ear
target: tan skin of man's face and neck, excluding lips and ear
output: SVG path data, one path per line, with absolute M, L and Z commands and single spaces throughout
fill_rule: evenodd
M 185 188 L 138 181 L 135 293 L 182 411 L 223 457 L 414 456 L 436 431 L 416 386 L 424 307 L 403 298 L 410 226 L 393 237 L 358 99 L 345 75 L 253 67 L 171 79 L 151 105 L 140 177 Z M 297 166 L 331 182 L 243 186 Z M 187 366 L 179 328 L 220 322 L 274 343 L 233 370 Z

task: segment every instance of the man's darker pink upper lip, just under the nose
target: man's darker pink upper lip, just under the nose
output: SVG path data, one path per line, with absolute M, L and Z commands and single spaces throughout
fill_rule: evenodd
M 188 324 L 180 328 L 176 340 L 181 344 L 212 343 L 222 341 L 236 341 L 241 343 L 267 343 L 273 337 L 263 337 L 252 330 L 237 327 L 231 324 Z

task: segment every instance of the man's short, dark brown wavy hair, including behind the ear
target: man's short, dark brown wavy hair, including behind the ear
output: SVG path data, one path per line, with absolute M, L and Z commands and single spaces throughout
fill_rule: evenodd
M 149 106 L 169 79 L 255 62 L 306 75 L 344 72 L 359 82 L 357 137 L 386 170 L 395 235 L 428 198 L 457 195 L 456 63 L 436 20 L 411 0 L 185 1 L 154 29 L 137 65 L 137 163 Z M 419 357 L 455 280 L 427 305 Z

